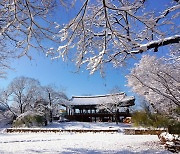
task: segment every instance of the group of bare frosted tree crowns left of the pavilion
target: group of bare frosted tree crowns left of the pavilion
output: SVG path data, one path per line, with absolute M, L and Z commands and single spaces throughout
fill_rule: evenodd
M 0 106 L 14 118 L 27 111 L 37 110 L 37 102 L 46 103 L 52 115 L 55 115 L 67 101 L 64 92 L 53 86 L 41 86 L 38 80 L 29 77 L 14 78 L 6 89 L 0 90 Z

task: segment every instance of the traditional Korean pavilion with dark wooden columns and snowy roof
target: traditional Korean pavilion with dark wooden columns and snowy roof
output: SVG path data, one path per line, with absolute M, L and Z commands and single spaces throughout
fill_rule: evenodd
M 129 107 L 135 105 L 134 102 L 134 96 L 126 96 L 124 92 L 96 96 L 73 96 L 66 107 L 66 118 L 82 122 L 113 122 L 117 120 L 120 122 L 131 116 Z

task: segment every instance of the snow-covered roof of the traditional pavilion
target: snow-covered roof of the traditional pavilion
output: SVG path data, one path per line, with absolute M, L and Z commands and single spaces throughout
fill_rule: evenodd
M 126 96 L 126 94 L 122 92 L 95 96 L 72 96 L 70 105 L 99 105 L 105 103 L 121 103 L 120 106 L 132 106 L 134 105 L 134 100 L 134 96 Z

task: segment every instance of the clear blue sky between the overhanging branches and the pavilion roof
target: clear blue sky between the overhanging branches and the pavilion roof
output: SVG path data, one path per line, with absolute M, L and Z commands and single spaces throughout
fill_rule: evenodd
M 160 0 L 159 5 L 162 2 L 163 0 Z M 63 17 L 55 16 L 55 18 L 61 22 L 67 22 L 72 17 L 71 13 L 64 11 Z M 126 92 L 127 95 L 134 95 L 130 88 L 125 86 L 127 84 L 125 75 L 129 68 L 113 69 L 109 67 L 106 69 L 105 77 L 102 78 L 99 72 L 89 75 L 89 72 L 84 69 L 75 73 L 76 68 L 73 64 L 64 63 L 61 59 L 51 61 L 42 53 L 32 52 L 33 60 L 31 61 L 27 57 L 12 61 L 11 67 L 15 70 L 8 70 L 7 79 L 0 79 L 0 88 L 6 88 L 15 77 L 26 76 L 38 79 L 42 85 L 54 84 L 65 90 L 69 98 L 72 95 L 107 94 L 116 86 L 120 87 L 121 91 Z

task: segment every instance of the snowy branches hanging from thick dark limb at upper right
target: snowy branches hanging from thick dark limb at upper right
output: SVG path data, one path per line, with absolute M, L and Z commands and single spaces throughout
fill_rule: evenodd
M 161 7 L 155 5 L 156 0 L 83 2 L 75 17 L 59 30 L 57 52 L 47 52 L 53 58 L 68 58 L 94 73 L 107 63 L 121 66 L 137 54 L 157 52 L 180 41 L 179 0 L 164 0 Z

